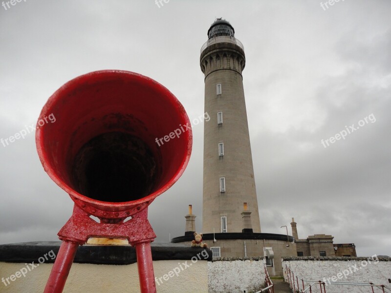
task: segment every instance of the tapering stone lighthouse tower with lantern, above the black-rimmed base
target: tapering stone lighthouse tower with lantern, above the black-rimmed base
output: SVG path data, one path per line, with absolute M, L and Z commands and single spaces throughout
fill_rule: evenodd
M 261 232 L 242 82 L 244 48 L 233 26 L 217 19 L 201 48 L 205 76 L 202 232 L 242 232 L 243 203 Z

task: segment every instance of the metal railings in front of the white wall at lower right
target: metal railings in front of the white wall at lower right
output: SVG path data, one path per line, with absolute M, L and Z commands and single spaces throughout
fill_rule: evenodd
M 341 285 L 341 286 L 370 286 L 372 289 L 372 293 L 375 293 L 373 288 L 378 288 L 381 289 L 383 293 L 391 293 L 391 289 L 385 285 L 375 285 L 373 283 L 361 283 L 361 282 L 328 282 L 326 284 L 323 281 L 314 281 L 314 280 L 304 280 L 302 278 L 299 278 L 298 275 L 288 267 L 288 265 L 285 265 L 285 273 L 286 273 L 286 278 L 288 279 L 288 284 L 291 289 L 293 289 L 293 292 L 300 292 L 300 293 L 305 293 L 309 292 L 312 293 L 312 288 L 316 288 L 319 285 L 320 292 L 321 293 L 326 293 L 326 286 L 327 285 Z M 296 279 L 295 279 L 296 278 Z M 300 289 L 299 286 L 299 280 L 301 281 L 302 289 Z M 310 283 L 306 288 L 304 288 L 304 282 Z M 379 291 L 377 291 L 379 292 Z

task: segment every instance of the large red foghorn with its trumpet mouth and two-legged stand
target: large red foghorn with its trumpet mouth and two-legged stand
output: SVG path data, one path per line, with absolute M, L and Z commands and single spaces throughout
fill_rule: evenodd
M 51 116 L 55 121 L 47 123 Z M 63 244 L 44 293 L 63 292 L 78 246 L 91 237 L 128 239 L 136 248 L 141 292 L 155 293 L 150 243 L 156 235 L 148 206 L 189 162 L 193 139 L 183 105 L 141 74 L 100 70 L 60 87 L 40 117 L 46 121 L 36 130 L 43 169 L 75 203 L 58 233 Z

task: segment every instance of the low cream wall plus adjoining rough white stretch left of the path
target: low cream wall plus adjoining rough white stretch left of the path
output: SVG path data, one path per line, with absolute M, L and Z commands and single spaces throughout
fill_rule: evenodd
M 184 263 L 186 262 L 186 265 Z M 10 278 L 10 284 L 0 282 L 0 293 L 42 293 L 53 264 L 39 267 L 16 278 L 24 263 L 0 262 L 0 279 Z M 157 278 L 157 293 L 239 293 L 256 292 L 264 284 L 262 260 L 191 260 L 153 261 Z M 175 274 L 175 271 L 177 274 Z M 170 276 L 171 275 L 171 276 Z M 164 279 L 166 278 L 166 280 Z M 160 279 L 160 281 L 159 281 Z M 137 264 L 93 265 L 74 263 L 65 284 L 64 293 L 139 293 Z

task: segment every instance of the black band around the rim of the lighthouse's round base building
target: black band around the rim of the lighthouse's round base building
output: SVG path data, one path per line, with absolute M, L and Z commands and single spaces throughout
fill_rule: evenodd
M 293 242 L 294 238 L 293 236 L 287 237 L 284 234 L 274 234 L 274 233 L 207 233 L 202 234 L 202 241 L 205 240 L 212 240 L 213 237 L 216 238 L 217 242 L 218 240 L 280 240 L 280 241 L 287 241 L 287 238 L 290 242 Z M 179 236 L 171 239 L 171 243 L 181 243 L 181 242 L 187 242 L 194 240 L 194 235 L 184 235 Z

